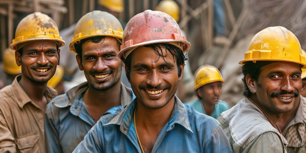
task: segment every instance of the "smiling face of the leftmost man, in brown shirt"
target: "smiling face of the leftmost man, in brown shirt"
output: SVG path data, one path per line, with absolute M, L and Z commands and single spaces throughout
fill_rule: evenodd
M 18 66 L 22 66 L 22 79 L 46 83 L 59 64 L 60 50 L 54 41 L 33 41 L 25 44 L 22 55 L 16 51 Z

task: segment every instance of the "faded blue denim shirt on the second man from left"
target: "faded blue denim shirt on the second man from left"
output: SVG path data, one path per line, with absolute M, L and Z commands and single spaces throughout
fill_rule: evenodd
M 71 153 L 95 125 L 83 101 L 87 82 L 73 87 L 66 94 L 55 97 L 45 111 L 45 139 L 47 153 Z M 105 114 L 122 110 L 135 98 L 131 88 L 121 83 L 121 106 Z

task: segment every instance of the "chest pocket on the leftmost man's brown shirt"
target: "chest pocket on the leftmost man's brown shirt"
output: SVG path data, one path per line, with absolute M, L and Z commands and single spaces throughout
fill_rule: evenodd
M 39 136 L 36 133 L 15 139 L 16 145 L 20 153 L 30 153 L 34 145 L 37 143 Z

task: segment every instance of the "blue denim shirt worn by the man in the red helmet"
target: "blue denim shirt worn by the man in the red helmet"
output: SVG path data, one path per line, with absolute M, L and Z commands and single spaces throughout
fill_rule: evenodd
M 102 116 L 73 153 L 141 153 L 134 129 L 134 99 L 123 111 Z M 175 97 L 168 123 L 152 153 L 233 153 L 219 122 Z

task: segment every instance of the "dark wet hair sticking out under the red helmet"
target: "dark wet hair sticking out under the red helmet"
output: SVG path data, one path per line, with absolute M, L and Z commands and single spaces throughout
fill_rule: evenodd
M 178 76 L 181 75 L 182 73 L 182 69 L 180 66 L 184 66 L 185 62 L 187 60 L 187 54 L 184 55 L 182 50 L 178 47 L 176 47 L 173 44 L 167 44 L 167 43 L 157 43 L 157 44 L 147 44 L 144 45 L 145 47 L 150 47 L 153 48 L 155 53 L 157 55 L 159 55 L 159 57 L 162 57 L 164 59 L 164 57 L 166 57 L 168 55 L 168 52 L 174 56 L 174 60 L 176 61 L 176 66 L 178 69 Z M 161 46 L 164 46 L 166 48 L 166 54 L 160 54 L 160 50 L 161 50 Z M 131 55 L 133 52 L 130 53 L 130 55 L 128 55 L 128 57 L 123 60 L 123 62 L 125 63 L 125 66 L 127 67 L 127 78 L 130 80 L 130 73 L 131 73 Z

